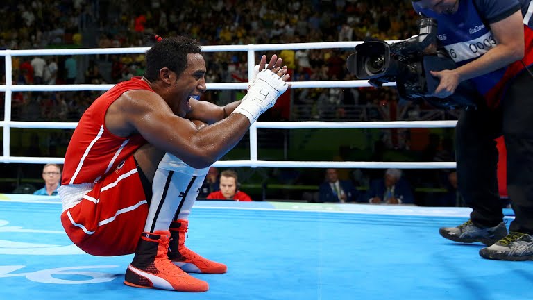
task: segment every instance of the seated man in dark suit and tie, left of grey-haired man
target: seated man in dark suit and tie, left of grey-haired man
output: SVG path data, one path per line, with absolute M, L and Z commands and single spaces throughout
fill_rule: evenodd
M 325 182 L 319 186 L 320 202 L 355 202 L 359 192 L 350 181 L 339 180 L 337 169 L 325 170 Z

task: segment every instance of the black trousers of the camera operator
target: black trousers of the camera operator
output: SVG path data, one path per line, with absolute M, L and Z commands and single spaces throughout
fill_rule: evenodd
M 533 76 L 519 74 L 509 84 L 500 107 L 462 112 L 455 128 L 459 192 L 473 208 L 477 226 L 502 222 L 495 138 L 507 147 L 507 192 L 515 213 L 510 231 L 533 233 Z

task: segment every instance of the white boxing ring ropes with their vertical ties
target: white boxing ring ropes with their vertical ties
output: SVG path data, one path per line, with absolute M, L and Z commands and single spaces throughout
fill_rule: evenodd
M 394 40 L 387 41 L 398 42 Z M 248 53 L 248 78 L 253 78 L 256 51 L 271 51 L 282 49 L 353 49 L 362 42 L 312 42 L 292 44 L 248 44 L 248 45 L 219 45 L 203 46 L 203 52 L 246 51 Z M 0 121 L 3 128 L 3 154 L 0 163 L 64 163 L 64 158 L 53 157 L 23 157 L 10 156 L 10 128 L 47 128 L 74 129 L 77 122 L 18 122 L 11 120 L 12 92 L 48 92 L 48 91 L 106 91 L 113 85 L 13 85 L 12 57 L 13 56 L 51 56 L 51 55 L 94 55 L 94 54 L 139 54 L 145 53 L 147 47 L 130 48 L 100 48 L 100 49 L 37 49 L 37 50 L 1 50 L 0 56 L 6 61 L 6 84 L 0 85 L 0 91 L 5 92 L 4 118 Z M 294 81 L 292 88 L 360 88 L 369 87 L 367 81 Z M 387 83 L 385 86 L 394 86 Z M 246 90 L 248 83 L 208 83 L 208 90 Z M 400 169 L 434 169 L 455 168 L 455 162 L 338 162 L 338 161 L 271 161 L 257 158 L 257 128 L 278 129 L 309 129 L 309 128 L 443 128 L 455 127 L 456 121 L 399 121 L 399 122 L 255 122 L 250 127 L 250 160 L 220 160 L 217 167 L 335 167 L 335 168 L 400 168 Z

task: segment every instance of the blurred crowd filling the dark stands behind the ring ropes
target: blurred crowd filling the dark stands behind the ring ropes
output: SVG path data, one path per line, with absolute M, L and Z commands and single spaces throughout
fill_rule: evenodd
M 189 35 L 202 45 L 398 40 L 418 33 L 418 16 L 407 0 L 23 0 L 0 3 L 0 12 L 0 49 L 145 47 L 147 33 L 163 37 Z M 293 81 L 323 81 L 356 79 L 346 69 L 346 58 L 352 52 L 353 49 L 298 49 L 266 54 L 278 53 Z M 257 53 L 260 54 L 263 53 Z M 246 52 L 207 52 L 205 58 L 208 83 L 248 81 Z M 0 64 L 3 84 L 4 61 Z M 17 85 L 112 84 L 143 73 L 142 54 L 12 58 L 12 83 Z M 203 100 L 224 105 L 237 100 L 243 92 L 209 90 Z M 12 119 L 76 122 L 99 94 L 100 91 L 13 92 Z M 262 118 L 456 118 L 454 112 L 434 110 L 425 103 L 399 103 L 392 88 L 302 88 L 286 94 Z M 3 99 L 2 93 L 0 101 Z M 3 116 L 3 103 L 0 110 Z M 53 146 L 68 139 L 70 133 L 54 134 L 55 141 L 48 142 Z M 378 144 L 395 150 L 412 147 L 409 131 L 403 129 L 382 130 Z M 379 148 L 374 148 L 373 153 L 379 156 Z

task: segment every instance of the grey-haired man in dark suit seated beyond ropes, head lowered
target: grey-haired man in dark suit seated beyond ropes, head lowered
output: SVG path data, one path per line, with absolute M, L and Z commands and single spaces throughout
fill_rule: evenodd
M 414 203 L 411 186 L 402 178 L 399 169 L 387 169 L 384 178 L 371 181 L 369 192 L 362 201 L 372 204 Z

